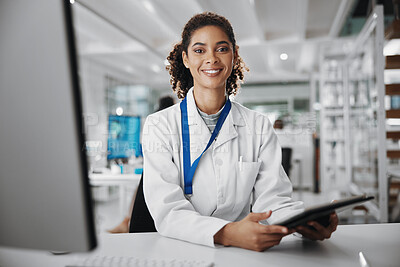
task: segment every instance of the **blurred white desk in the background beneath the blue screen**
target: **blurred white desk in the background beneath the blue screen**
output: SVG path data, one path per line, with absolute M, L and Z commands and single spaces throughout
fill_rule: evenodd
M 129 185 L 138 186 L 141 174 L 89 174 L 92 186 L 118 186 L 119 187 L 119 209 L 121 216 L 126 215 L 125 187 Z

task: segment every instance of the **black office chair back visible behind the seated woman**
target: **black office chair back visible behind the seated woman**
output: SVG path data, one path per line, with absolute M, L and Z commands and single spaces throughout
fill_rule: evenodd
M 143 194 L 143 173 L 133 204 L 129 233 L 157 232 Z

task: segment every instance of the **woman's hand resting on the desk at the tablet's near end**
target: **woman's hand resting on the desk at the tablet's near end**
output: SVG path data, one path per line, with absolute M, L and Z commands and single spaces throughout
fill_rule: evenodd
M 255 251 L 264 251 L 278 245 L 281 239 L 294 232 L 279 225 L 262 225 L 259 221 L 268 219 L 267 213 L 250 213 L 241 221 L 225 225 L 214 235 L 214 242 L 224 246 L 235 246 Z

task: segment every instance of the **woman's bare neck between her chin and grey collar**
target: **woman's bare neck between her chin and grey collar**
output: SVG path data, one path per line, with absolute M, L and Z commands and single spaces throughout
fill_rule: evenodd
M 225 91 L 212 89 L 193 89 L 193 96 L 196 106 L 204 113 L 215 114 L 225 104 Z

